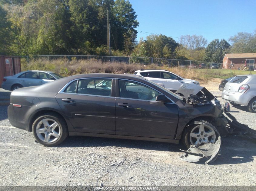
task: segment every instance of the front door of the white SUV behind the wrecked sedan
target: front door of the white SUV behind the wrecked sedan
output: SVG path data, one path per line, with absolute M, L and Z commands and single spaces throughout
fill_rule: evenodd
M 182 79 L 170 72 L 161 72 L 161 78 L 164 79 L 163 83 L 168 90 L 176 91 L 184 83 Z

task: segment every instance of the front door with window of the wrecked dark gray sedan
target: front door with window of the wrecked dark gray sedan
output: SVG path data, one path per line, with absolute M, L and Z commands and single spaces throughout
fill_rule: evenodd
M 143 91 L 133 91 L 135 86 Z M 116 135 L 175 138 L 177 105 L 155 101 L 159 94 L 140 82 L 116 80 Z

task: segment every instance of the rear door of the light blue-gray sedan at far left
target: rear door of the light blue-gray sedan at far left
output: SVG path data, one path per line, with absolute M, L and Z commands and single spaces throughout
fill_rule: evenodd
M 29 87 L 29 86 L 37 86 L 38 85 L 38 78 L 37 78 L 37 72 L 25 72 L 19 77 L 19 82 L 23 87 Z

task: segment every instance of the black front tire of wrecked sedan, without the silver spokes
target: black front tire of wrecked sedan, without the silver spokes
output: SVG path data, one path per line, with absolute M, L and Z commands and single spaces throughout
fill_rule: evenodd
M 212 123 L 211 121 L 208 121 L 208 123 L 211 123 L 211 125 L 214 126 L 213 125 L 214 123 Z M 182 136 L 182 142 L 183 142 L 183 144 L 185 145 L 186 148 L 190 148 L 191 145 L 196 144 L 196 140 L 200 140 L 201 137 L 195 138 L 195 137 L 190 136 L 190 135 L 192 135 L 191 133 L 193 133 L 193 136 L 196 133 L 198 133 L 198 135 L 201 135 L 199 132 L 197 132 L 197 129 L 198 130 L 200 129 L 200 124 L 193 124 L 193 125 L 190 125 L 190 126 L 185 128 L 183 136 Z M 211 132 L 211 131 L 213 131 L 214 133 Z M 205 137 L 204 135 L 206 135 L 207 133 L 213 134 L 213 135 Z M 202 135 L 202 138 L 206 138 L 208 140 L 208 142 L 215 143 L 216 140 L 217 140 L 217 137 L 218 137 L 218 135 L 216 134 L 214 129 L 212 129 L 211 126 L 208 126 L 208 125 L 205 124 L 204 125 L 204 133 Z M 191 139 L 192 139 L 192 142 L 191 142 Z M 201 142 L 201 144 L 207 143 L 207 140 Z

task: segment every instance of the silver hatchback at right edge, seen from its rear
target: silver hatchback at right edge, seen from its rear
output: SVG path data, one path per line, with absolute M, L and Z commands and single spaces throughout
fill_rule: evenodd
M 232 105 L 244 105 L 256 113 L 256 75 L 239 75 L 231 79 L 221 94 Z

